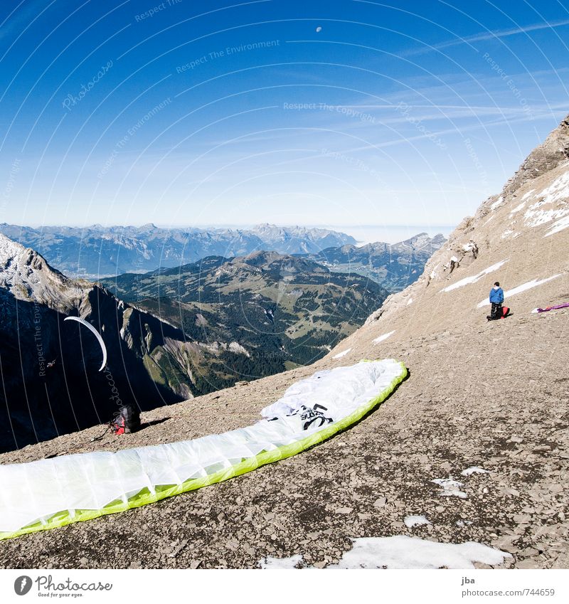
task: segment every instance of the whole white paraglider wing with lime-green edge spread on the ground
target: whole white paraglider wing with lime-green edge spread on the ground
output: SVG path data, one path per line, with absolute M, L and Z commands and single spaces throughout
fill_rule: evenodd
M 393 359 L 362 361 L 294 383 L 248 428 L 0 465 L 0 539 L 123 512 L 296 455 L 356 423 L 406 375 Z

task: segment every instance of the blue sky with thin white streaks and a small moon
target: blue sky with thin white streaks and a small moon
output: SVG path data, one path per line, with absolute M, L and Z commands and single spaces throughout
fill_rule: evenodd
M 454 224 L 569 112 L 555 0 L 3 0 L 0 222 Z

